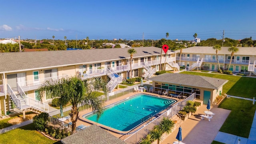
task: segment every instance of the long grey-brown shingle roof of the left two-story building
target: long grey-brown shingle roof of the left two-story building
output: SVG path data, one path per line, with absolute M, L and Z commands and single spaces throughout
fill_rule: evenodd
M 59 50 L 45 52 L 6 52 L 0 53 L 0 73 L 17 70 L 39 69 L 91 62 L 104 62 L 130 58 L 130 48 L 101 48 L 92 50 Z M 134 48 L 134 58 L 161 54 L 161 48 Z M 169 54 L 174 53 L 170 50 Z

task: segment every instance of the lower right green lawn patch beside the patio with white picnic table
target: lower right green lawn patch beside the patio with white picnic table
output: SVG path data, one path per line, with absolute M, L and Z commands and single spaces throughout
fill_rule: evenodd
M 248 138 L 256 105 L 250 100 L 226 98 L 219 108 L 231 110 L 220 131 Z

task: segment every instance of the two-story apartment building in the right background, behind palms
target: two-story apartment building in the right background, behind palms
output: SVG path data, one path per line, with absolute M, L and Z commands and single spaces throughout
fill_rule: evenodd
M 230 59 L 230 69 L 233 73 L 254 73 L 256 74 L 256 49 L 254 47 L 238 47 L 238 52 L 234 53 L 231 58 L 229 47 L 221 47 L 218 50 L 218 61 L 222 70 L 227 70 Z M 187 70 L 203 69 L 217 71 L 219 69 L 216 50 L 212 46 L 194 46 L 190 48 L 176 50 L 177 63 L 184 66 Z M 181 56 L 181 57 L 180 57 Z

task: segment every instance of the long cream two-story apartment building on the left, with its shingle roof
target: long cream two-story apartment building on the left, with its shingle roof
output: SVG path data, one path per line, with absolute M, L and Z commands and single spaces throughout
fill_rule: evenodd
M 64 50 L 44 52 L 10 52 L 0 54 L 0 109 L 24 110 L 36 108 L 48 111 L 50 97 L 39 100 L 38 88 L 46 80 L 77 76 L 81 80 L 102 78 L 108 82 L 109 94 L 122 82 L 130 78 L 129 48 L 92 50 Z M 132 58 L 132 77 L 150 78 L 160 70 L 160 61 L 166 70 L 179 70 L 176 52 L 168 50 L 167 57 L 161 48 L 138 47 Z M 162 59 L 162 60 L 161 60 Z

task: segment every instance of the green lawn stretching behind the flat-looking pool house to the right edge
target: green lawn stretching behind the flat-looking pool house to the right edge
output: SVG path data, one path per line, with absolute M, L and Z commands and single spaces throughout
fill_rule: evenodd
M 181 72 L 181 74 L 193 74 L 199 76 L 208 76 L 212 78 L 221 78 L 229 80 L 223 86 L 223 93 L 232 96 L 241 96 L 244 98 L 256 97 L 256 78 L 250 78 L 245 76 L 232 76 L 226 74 L 210 74 L 202 72 Z

